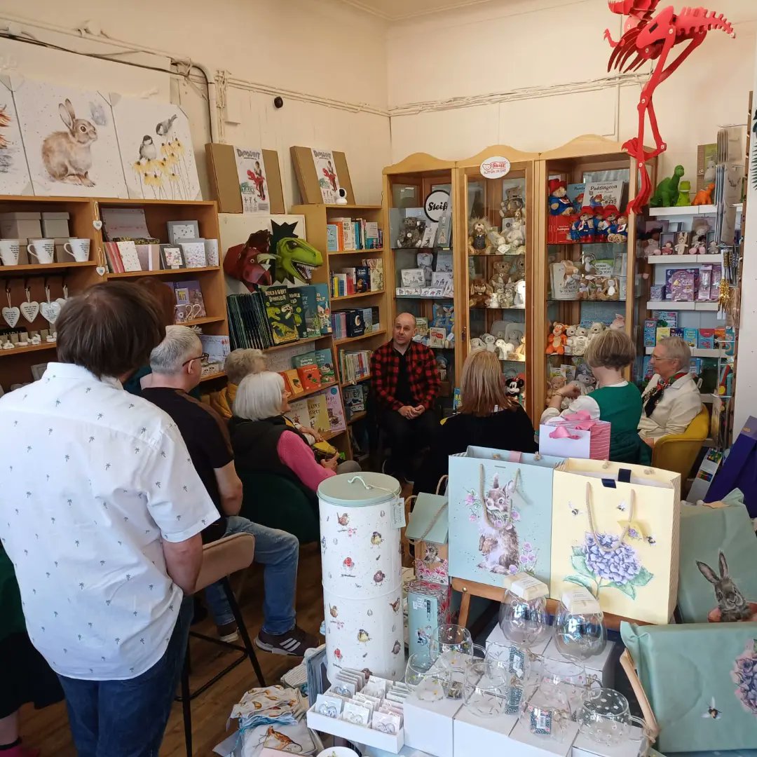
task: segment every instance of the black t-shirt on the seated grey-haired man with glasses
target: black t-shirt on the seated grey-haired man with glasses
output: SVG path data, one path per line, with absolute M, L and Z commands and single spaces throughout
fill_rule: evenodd
M 181 389 L 147 388 L 142 390 L 142 397 L 168 413 L 179 428 L 192 465 L 221 516 L 220 520 L 204 529 L 202 540 L 207 543 L 220 539 L 226 532 L 226 516 L 221 509 L 215 469 L 229 465 L 234 459 L 226 422 L 213 408 Z

